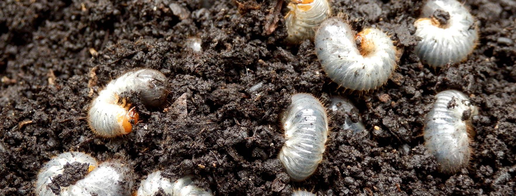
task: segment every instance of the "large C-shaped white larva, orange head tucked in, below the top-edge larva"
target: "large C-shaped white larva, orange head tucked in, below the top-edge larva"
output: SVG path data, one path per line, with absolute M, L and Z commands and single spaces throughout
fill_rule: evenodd
M 347 23 L 331 18 L 322 22 L 314 42 L 317 58 L 328 77 L 347 89 L 376 89 L 396 69 L 396 48 L 389 36 L 378 29 L 366 28 L 354 37 Z

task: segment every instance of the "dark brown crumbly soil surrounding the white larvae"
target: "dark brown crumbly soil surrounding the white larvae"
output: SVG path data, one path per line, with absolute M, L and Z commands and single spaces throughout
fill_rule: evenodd
M 136 185 L 157 169 L 172 179 L 191 172 L 216 195 L 298 188 L 318 195 L 515 194 L 514 1 L 467 1 L 479 22 L 478 46 L 465 62 L 440 70 L 412 53 L 423 2 L 333 1 L 334 13 L 345 13 L 357 30 L 379 27 L 404 50 L 388 84 L 364 93 L 337 89 L 311 41 L 283 42 L 285 3 L 280 11 L 276 0 L 181 0 L 174 14 L 173 2 L 0 1 L 0 195 L 34 195 L 38 170 L 66 151 L 126 156 Z M 203 52 L 187 46 L 192 37 L 202 39 Z M 168 103 L 145 108 L 133 96 L 142 120 L 133 132 L 95 136 L 85 120 L 90 100 L 137 68 L 169 78 Z M 480 108 L 475 155 L 453 175 L 437 171 L 421 137 L 433 95 L 446 89 L 470 94 Z M 326 103 L 330 95 L 349 96 L 367 128 L 357 135 L 333 129 L 324 161 L 301 183 L 276 158 L 284 143 L 278 115 L 295 92 Z

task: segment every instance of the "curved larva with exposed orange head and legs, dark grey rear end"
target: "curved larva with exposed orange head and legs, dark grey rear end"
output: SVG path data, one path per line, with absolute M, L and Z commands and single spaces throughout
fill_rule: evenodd
M 117 79 L 111 80 L 91 103 L 88 113 L 91 129 L 95 134 L 103 137 L 131 133 L 132 123 L 138 122 L 138 113 L 119 95 L 123 92 L 134 91 L 140 94 L 143 104 L 156 107 L 165 101 L 166 85 L 165 75 L 150 69 L 127 72 Z

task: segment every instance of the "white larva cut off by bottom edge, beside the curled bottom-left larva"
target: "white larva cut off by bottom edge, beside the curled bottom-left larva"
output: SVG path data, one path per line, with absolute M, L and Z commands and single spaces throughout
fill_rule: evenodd
M 211 190 L 203 190 L 193 184 L 192 176 L 187 175 L 179 178 L 175 182 L 170 182 L 169 178 L 162 177 L 161 171 L 150 173 L 146 179 L 141 181 L 140 188 L 136 192 L 136 196 L 153 196 L 159 190 L 163 189 L 165 194 L 171 196 L 211 196 Z

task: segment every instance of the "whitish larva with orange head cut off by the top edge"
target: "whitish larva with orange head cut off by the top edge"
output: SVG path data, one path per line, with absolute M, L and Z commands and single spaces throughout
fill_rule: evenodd
M 331 13 L 328 0 L 291 0 L 288 9 L 285 26 L 291 43 L 312 39 L 315 28 Z

